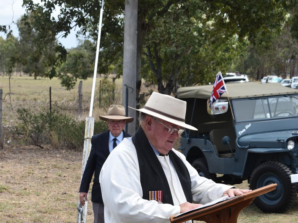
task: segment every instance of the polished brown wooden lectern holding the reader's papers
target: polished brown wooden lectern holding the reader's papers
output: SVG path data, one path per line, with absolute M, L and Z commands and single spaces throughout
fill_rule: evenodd
M 170 222 L 179 223 L 195 220 L 207 223 L 236 223 L 238 215 L 243 208 L 251 204 L 257 196 L 275 190 L 276 186 L 276 183 L 272 183 L 205 208 L 188 211 L 179 216 L 170 216 Z

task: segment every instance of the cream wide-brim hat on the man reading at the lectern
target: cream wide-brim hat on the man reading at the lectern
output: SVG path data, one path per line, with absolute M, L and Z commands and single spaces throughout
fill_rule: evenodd
M 129 107 L 134 109 L 132 107 Z M 198 129 L 185 123 L 186 101 L 153 92 L 142 109 L 134 109 L 190 130 Z

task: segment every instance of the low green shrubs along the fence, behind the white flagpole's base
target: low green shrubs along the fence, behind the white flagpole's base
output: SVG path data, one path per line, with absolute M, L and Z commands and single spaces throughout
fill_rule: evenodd
M 54 147 L 82 149 L 85 136 L 85 121 L 77 122 L 72 117 L 58 111 L 30 114 L 27 109 L 18 109 L 17 134 L 24 142 L 50 143 Z M 108 129 L 104 121 L 94 123 L 94 134 Z

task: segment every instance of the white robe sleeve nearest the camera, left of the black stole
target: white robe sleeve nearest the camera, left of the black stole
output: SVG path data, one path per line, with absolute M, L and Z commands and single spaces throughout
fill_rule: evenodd
M 100 172 L 105 222 L 170 222 L 180 206 L 142 199 L 139 164 L 134 145 L 123 140 L 108 156 Z M 148 191 L 149 193 L 149 191 Z

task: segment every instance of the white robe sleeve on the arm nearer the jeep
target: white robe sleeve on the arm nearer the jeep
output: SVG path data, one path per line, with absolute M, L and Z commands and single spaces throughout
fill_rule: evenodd
M 213 180 L 200 177 L 198 172 L 192 165 L 190 165 L 182 153 L 176 150 L 173 151 L 175 151 L 175 153 L 181 158 L 189 171 L 193 203 L 206 204 L 218 199 L 223 195 L 224 191 L 233 187 L 221 183 L 215 183 Z

